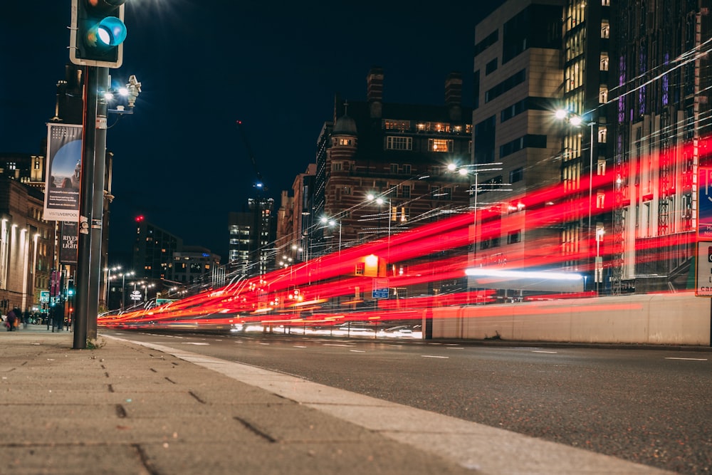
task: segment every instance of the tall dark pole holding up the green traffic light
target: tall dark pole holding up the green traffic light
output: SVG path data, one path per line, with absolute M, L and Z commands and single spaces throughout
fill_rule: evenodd
M 83 150 L 79 192 L 79 239 L 75 275 L 75 350 L 86 348 L 97 336 L 101 232 L 106 160 L 106 100 L 100 94 L 109 80 L 109 69 L 87 66 L 84 81 Z

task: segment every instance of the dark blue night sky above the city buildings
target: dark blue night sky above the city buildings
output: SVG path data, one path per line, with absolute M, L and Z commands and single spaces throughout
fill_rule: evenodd
M 313 162 L 335 93 L 364 100 L 372 66 L 384 68 L 387 102 L 441 104 L 460 71 L 471 105 L 474 25 L 502 1 L 340 3 L 127 1 L 124 63 L 110 74 L 136 75 L 142 93 L 108 131 L 110 263 L 127 263 L 138 214 L 225 259 L 227 214 L 256 179 L 238 119 L 278 202 Z M 69 24 L 69 0 L 3 7 L 0 151 L 40 152 Z

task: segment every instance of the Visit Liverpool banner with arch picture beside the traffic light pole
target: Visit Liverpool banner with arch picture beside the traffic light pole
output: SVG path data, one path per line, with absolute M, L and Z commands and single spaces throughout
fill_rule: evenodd
M 79 221 L 82 126 L 47 124 L 46 221 Z

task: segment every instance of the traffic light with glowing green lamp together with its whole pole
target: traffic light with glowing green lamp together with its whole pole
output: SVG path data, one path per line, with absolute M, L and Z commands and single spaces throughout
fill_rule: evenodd
M 76 272 L 75 349 L 96 339 L 109 69 L 122 63 L 125 0 L 72 0 L 69 58 L 86 67 Z

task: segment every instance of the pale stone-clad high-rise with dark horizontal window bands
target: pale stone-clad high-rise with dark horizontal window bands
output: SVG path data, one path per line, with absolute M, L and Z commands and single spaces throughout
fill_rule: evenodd
M 478 210 L 475 266 L 561 265 L 550 259 L 560 254 L 560 217 L 534 217 L 552 198 L 525 197 L 560 183 L 567 153 L 553 114 L 562 97 L 562 5 L 511 0 L 476 25 L 473 201 L 490 216 L 482 226 Z

